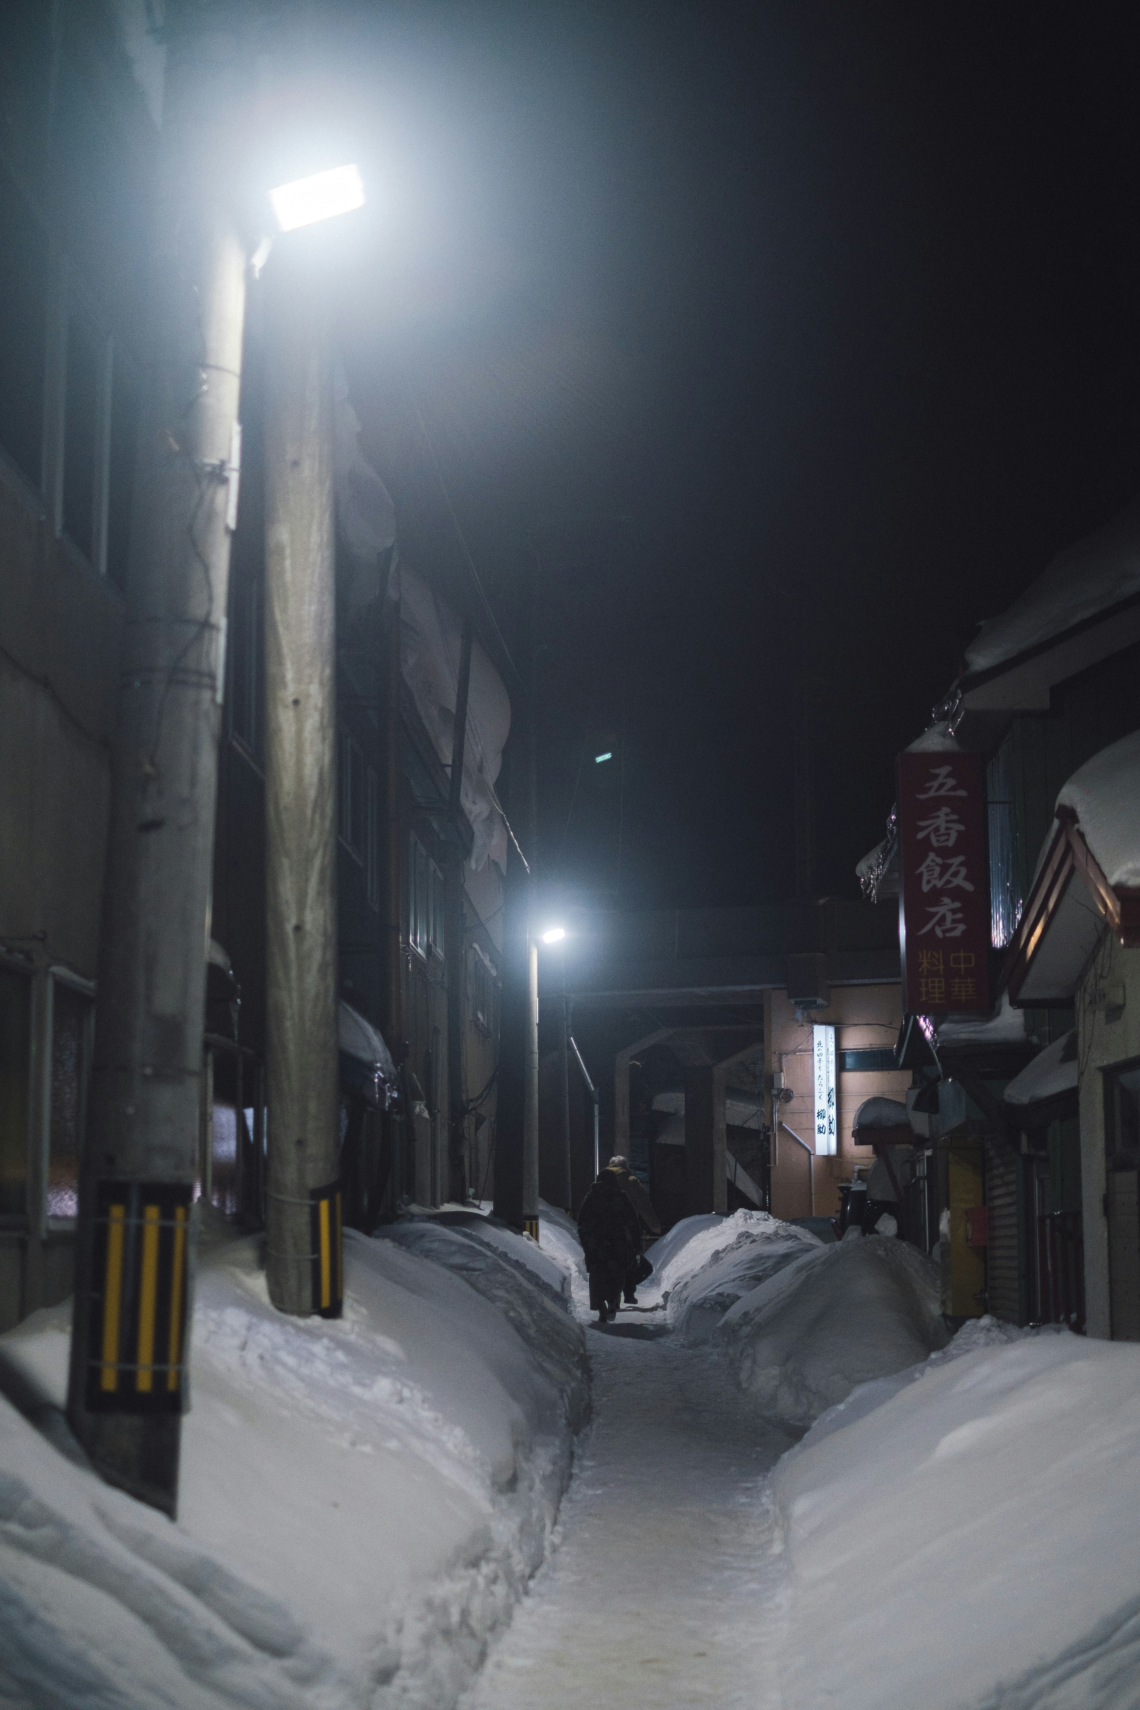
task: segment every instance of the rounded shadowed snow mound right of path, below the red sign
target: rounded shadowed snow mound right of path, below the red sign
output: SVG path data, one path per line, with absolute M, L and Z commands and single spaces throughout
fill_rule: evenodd
M 945 1346 L 938 1267 L 875 1235 L 817 1245 L 730 1306 L 716 1336 L 761 1411 L 807 1428 L 858 1383 Z

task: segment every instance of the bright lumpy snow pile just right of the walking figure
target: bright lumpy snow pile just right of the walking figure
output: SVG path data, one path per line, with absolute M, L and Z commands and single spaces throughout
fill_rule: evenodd
M 776 1276 L 805 1253 L 820 1252 L 807 1229 L 781 1223 L 766 1211 L 735 1211 L 732 1218 L 685 1218 L 699 1224 L 687 1240 L 667 1253 L 653 1277 L 667 1308 L 668 1324 L 684 1342 L 708 1342 L 716 1325 L 742 1294 Z M 670 1229 L 651 1250 L 656 1271 L 660 1248 L 684 1224 Z M 653 1296 L 644 1291 L 646 1301 Z

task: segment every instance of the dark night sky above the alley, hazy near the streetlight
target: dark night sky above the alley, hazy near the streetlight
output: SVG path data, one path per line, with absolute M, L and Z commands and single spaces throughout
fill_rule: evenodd
M 504 629 L 535 576 L 547 876 L 612 893 L 620 821 L 624 906 L 788 896 L 807 699 L 817 891 L 856 894 L 976 622 L 1140 487 L 1135 17 L 544 0 L 323 36 L 378 186 L 361 414 L 403 424 L 427 540 L 419 407 Z

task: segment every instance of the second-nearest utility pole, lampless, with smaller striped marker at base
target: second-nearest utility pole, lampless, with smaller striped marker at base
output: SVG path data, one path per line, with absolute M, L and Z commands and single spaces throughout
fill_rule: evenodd
M 267 1274 L 280 1312 L 338 1317 L 333 390 L 313 260 L 265 275 Z

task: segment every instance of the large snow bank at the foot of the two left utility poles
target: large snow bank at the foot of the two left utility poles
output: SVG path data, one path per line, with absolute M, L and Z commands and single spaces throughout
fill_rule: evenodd
M 338 1322 L 275 1313 L 256 1240 L 202 1253 L 176 1525 L 0 1400 L 0 1701 L 455 1701 L 545 1553 L 581 1332 L 487 1245 L 417 1245 L 347 1233 Z M 53 1308 L 0 1339 L 56 1423 L 67 1329 Z

